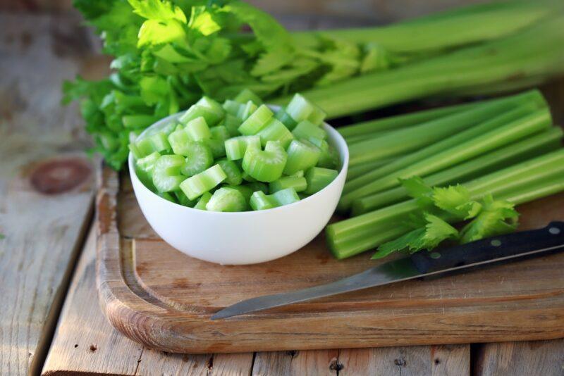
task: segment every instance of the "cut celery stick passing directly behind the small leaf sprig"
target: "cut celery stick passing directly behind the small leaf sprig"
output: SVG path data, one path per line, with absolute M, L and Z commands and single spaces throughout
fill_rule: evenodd
M 529 139 L 510 144 L 484 156 L 429 175 L 424 180 L 431 186 L 466 182 L 480 175 L 522 162 L 527 158 L 539 156 L 541 153 L 556 150 L 561 147 L 562 134 L 563 131 L 560 128 L 553 127 Z M 360 215 L 407 199 L 409 199 L 409 195 L 404 187 L 388 189 L 385 192 L 356 199 L 353 201 L 352 213 L 353 215 Z

